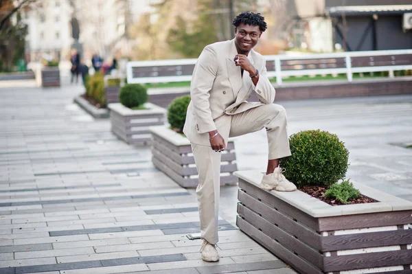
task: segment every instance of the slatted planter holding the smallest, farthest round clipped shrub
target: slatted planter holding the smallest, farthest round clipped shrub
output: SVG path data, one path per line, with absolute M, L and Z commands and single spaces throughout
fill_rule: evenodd
M 151 103 L 144 106 L 147 109 L 134 111 L 120 103 L 108 104 L 112 131 L 127 144 L 147 144 L 149 127 L 165 124 L 165 109 Z

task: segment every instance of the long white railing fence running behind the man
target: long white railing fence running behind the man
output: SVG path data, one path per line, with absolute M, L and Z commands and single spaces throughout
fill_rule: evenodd
M 299 56 L 268 55 L 266 68 L 269 78 L 282 85 L 289 76 L 316 76 L 345 73 L 352 82 L 353 73 L 412 69 L 412 49 L 374 52 L 341 52 L 332 54 L 305 54 Z M 133 61 L 126 65 L 128 83 L 184 82 L 192 79 L 197 59 Z

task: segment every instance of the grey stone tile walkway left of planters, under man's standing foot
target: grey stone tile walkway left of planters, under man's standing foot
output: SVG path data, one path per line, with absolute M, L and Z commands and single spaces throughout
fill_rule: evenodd
M 224 218 L 203 262 L 192 191 L 72 104 L 81 91 L 0 88 L 1 274 L 295 273 Z

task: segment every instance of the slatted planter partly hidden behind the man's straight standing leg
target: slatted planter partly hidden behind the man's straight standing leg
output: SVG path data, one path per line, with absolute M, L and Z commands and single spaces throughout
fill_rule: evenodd
M 198 172 L 194 164 L 190 141 L 166 126 L 150 128 L 153 138 L 152 162 L 182 187 L 196 187 Z M 235 184 L 238 178 L 233 172 L 238 170 L 235 144 L 229 140 L 227 151 L 222 153 L 220 185 Z

